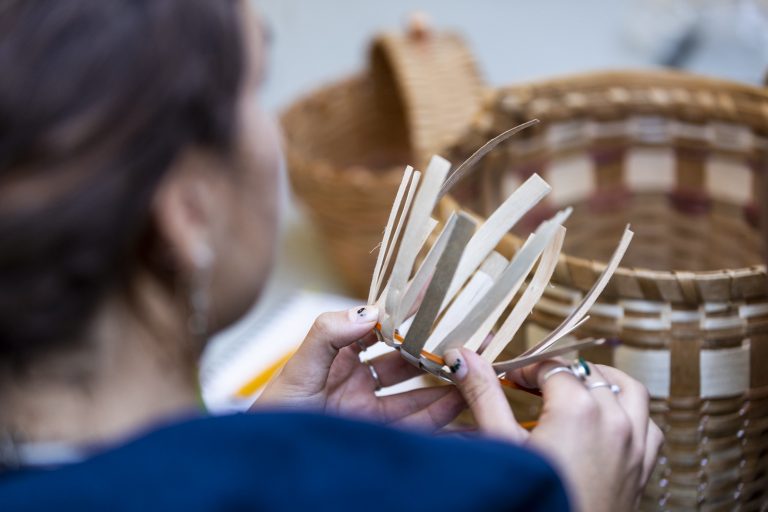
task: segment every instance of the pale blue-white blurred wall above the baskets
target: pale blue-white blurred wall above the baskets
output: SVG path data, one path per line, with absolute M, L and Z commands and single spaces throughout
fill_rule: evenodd
M 464 34 L 491 84 L 653 66 L 687 31 L 686 67 L 756 83 L 768 66 L 765 0 L 254 0 L 274 34 L 266 105 L 362 69 L 373 34 L 423 11 Z

